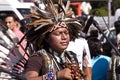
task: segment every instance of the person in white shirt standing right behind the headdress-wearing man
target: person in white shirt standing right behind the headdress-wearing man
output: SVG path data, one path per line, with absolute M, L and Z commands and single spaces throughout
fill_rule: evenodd
M 89 76 L 91 77 L 92 74 L 91 56 L 87 40 L 82 36 L 82 32 L 80 33 L 79 38 L 69 43 L 67 50 L 76 53 L 80 69 L 83 70 L 84 68 L 88 67 Z M 85 61 L 83 60 L 84 57 L 86 57 L 87 66 L 85 65 Z

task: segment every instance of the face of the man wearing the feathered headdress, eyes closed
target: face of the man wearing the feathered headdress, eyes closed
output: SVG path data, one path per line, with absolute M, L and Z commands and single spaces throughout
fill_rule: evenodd
M 70 41 L 69 31 L 66 28 L 58 28 L 50 33 L 47 42 L 49 46 L 56 52 L 63 52 Z

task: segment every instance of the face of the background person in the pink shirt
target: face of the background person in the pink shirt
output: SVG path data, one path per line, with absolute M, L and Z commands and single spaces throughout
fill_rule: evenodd
M 16 22 L 14 21 L 13 17 L 7 17 L 5 19 L 5 23 L 7 27 L 10 28 L 11 30 L 13 30 L 14 27 L 16 26 Z

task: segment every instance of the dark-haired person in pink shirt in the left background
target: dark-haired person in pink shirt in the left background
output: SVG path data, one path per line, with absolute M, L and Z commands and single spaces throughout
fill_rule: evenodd
M 7 27 L 14 32 L 14 34 L 18 38 L 18 42 L 19 42 L 24 36 L 24 34 L 20 31 L 21 24 L 20 24 L 19 19 L 14 14 L 9 14 L 5 18 L 5 23 L 6 23 Z M 17 45 L 21 55 L 27 59 L 28 56 L 25 55 L 25 51 L 22 49 L 22 47 L 23 48 L 26 47 L 25 39 L 23 39 L 23 41 L 21 42 L 22 47 L 17 44 L 18 42 L 15 42 L 15 44 Z

